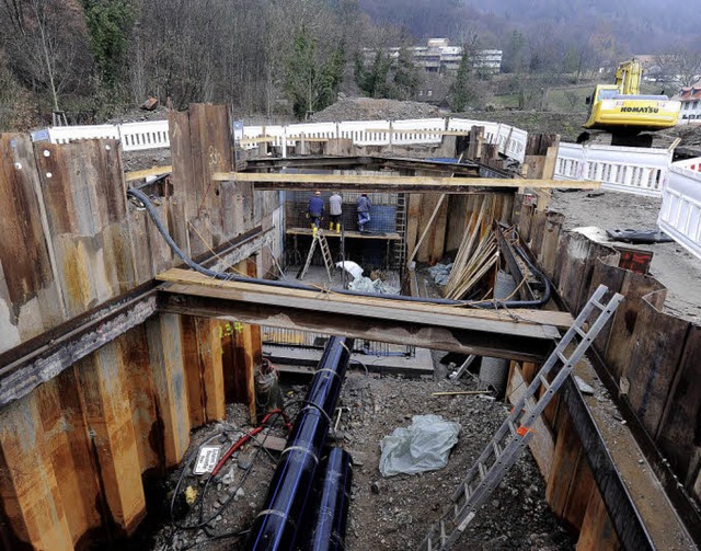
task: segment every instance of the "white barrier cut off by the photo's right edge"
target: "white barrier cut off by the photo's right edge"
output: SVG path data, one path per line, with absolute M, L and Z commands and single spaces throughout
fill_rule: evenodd
M 701 259 L 701 158 L 671 163 L 657 225 Z

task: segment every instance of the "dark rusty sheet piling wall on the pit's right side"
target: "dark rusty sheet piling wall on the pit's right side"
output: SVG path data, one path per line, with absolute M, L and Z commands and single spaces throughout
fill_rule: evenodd
M 651 450 L 653 470 L 671 492 L 687 527 L 701 526 L 701 328 L 664 312 L 666 289 L 659 282 L 618 267 L 620 253 L 616 250 L 563 230 L 562 215 L 520 204 L 515 210 L 521 238 L 571 311 L 578 311 L 590 289 L 600 284 L 625 296 L 612 322 L 594 343 L 602 369 L 599 375 L 619 393 L 621 407 L 635 417 L 631 431 L 643 449 Z M 527 371 L 532 369 L 528 364 L 522 369 L 528 380 Z M 562 425 L 555 429 L 566 436 Z M 556 447 L 555 455 L 559 443 Z M 568 449 L 571 454 L 576 448 Z M 559 461 L 574 466 L 577 472 L 588 470 L 576 456 Z M 679 493 L 679 485 L 696 505 Z M 563 510 L 563 497 L 552 492 L 555 510 Z M 599 506 L 595 514 L 600 517 L 605 513 Z M 573 514 L 572 509 L 564 512 L 565 518 Z M 570 521 L 579 527 L 583 519 Z M 692 536 L 698 538 L 699 533 Z

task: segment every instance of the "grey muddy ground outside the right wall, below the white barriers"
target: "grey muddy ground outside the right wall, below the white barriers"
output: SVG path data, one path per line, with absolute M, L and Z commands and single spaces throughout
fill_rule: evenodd
M 660 198 L 642 197 L 617 192 L 554 192 L 550 209 L 565 215 L 565 229 L 596 226 L 602 230 L 656 229 Z M 701 322 L 701 260 L 680 244 L 656 243 L 634 245 L 614 243 L 627 249 L 653 252 L 650 275 L 667 287 L 665 311 Z

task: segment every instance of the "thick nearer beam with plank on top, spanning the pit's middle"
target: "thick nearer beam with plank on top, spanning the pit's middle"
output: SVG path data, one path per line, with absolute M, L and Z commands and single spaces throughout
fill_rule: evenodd
M 542 360 L 556 326 L 572 318 L 538 310 L 501 312 L 212 280 L 171 269 L 159 276 L 159 309 L 244 323 L 369 338 L 510 359 Z

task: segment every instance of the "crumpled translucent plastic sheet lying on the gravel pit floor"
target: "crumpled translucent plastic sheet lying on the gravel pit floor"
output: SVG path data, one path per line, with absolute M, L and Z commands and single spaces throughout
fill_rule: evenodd
M 440 415 L 414 415 L 409 427 L 395 428 L 382 438 L 380 473 L 393 477 L 443 469 L 459 434 L 459 423 Z

